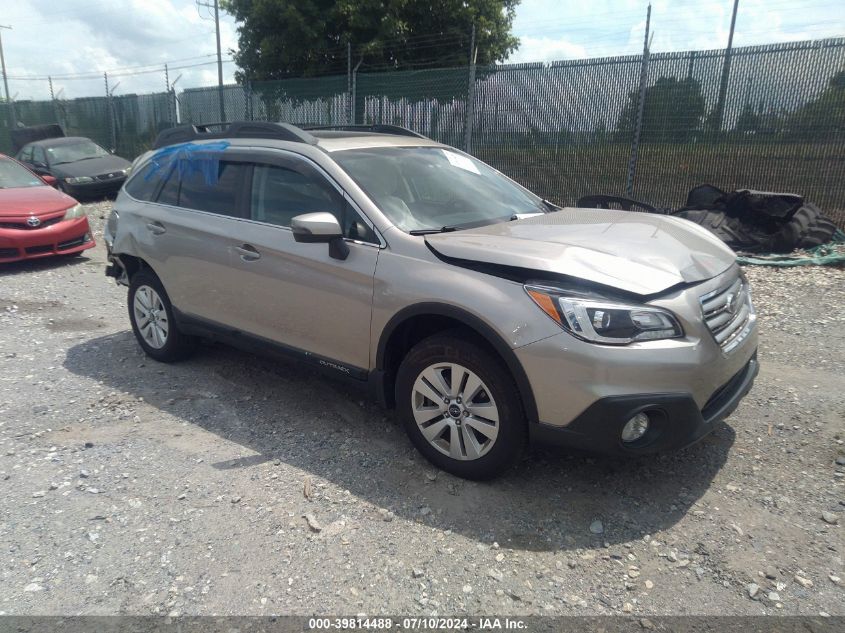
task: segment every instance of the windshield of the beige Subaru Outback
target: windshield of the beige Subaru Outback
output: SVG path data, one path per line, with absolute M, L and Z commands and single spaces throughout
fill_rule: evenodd
M 403 231 L 480 226 L 547 210 L 527 189 L 457 150 L 379 147 L 332 157 Z

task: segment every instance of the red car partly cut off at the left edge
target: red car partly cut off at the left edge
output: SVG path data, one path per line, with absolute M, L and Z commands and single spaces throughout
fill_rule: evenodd
M 50 181 L 0 154 L 0 264 L 94 247 L 82 206 Z

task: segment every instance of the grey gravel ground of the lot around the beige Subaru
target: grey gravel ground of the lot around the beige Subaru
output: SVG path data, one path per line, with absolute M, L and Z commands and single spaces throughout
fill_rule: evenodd
M 843 269 L 749 269 L 761 374 L 699 445 L 472 483 L 302 366 L 145 358 L 104 255 L 0 270 L 2 613 L 845 614 Z

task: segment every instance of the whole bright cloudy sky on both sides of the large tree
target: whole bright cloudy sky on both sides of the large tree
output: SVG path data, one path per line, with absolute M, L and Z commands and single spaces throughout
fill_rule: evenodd
M 646 0 L 523 0 L 509 62 L 637 54 Z M 733 0 L 653 0 L 652 52 L 724 48 Z M 214 22 L 196 0 L 0 0 L 0 29 L 13 99 L 60 98 L 217 82 Z M 845 36 L 843 0 L 740 0 L 735 46 Z M 221 15 L 223 79 L 233 81 L 236 25 Z M 178 77 L 178 80 L 177 80 Z

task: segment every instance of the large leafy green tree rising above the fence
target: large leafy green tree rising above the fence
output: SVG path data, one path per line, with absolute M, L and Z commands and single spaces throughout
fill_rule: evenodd
M 466 65 L 472 27 L 477 62 L 516 50 L 520 0 L 223 0 L 238 22 L 235 77 L 264 81 L 344 74 L 347 44 L 368 68 Z

